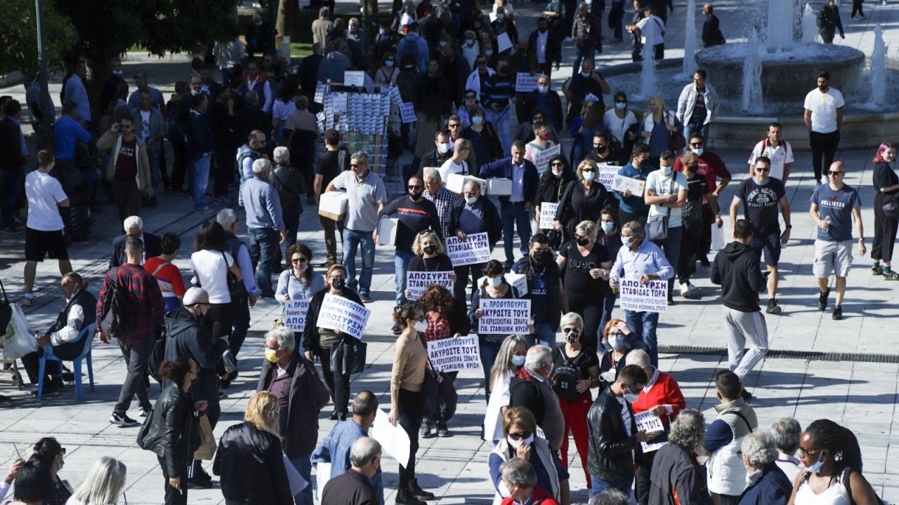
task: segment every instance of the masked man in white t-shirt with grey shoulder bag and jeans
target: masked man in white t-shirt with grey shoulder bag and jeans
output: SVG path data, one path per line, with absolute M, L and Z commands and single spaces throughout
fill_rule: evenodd
M 643 199 L 649 207 L 649 222 L 653 216 L 668 217 L 668 236 L 651 242 L 663 249 L 665 258 L 672 266 L 681 258 L 681 213 L 687 204 L 687 176 L 682 172 L 674 172 L 674 152 L 663 151 L 659 158 L 659 169 L 646 177 Z M 649 228 L 647 223 L 646 228 Z M 648 230 L 647 230 L 648 232 Z M 647 236 L 647 238 L 649 238 Z M 674 278 L 668 279 L 668 300 L 672 300 Z M 692 285 L 688 281 L 681 285 L 681 295 L 690 297 Z

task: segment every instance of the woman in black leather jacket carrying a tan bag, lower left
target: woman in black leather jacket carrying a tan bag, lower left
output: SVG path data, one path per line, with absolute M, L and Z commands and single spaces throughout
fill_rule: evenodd
M 167 385 L 156 400 L 152 418 L 138 435 L 140 447 L 156 453 L 165 477 L 165 505 L 187 504 L 187 465 L 200 448 L 200 432 L 194 411 L 202 415 L 206 401 L 194 402 L 188 390 L 197 380 L 197 363 L 183 357 L 163 361 L 159 375 Z

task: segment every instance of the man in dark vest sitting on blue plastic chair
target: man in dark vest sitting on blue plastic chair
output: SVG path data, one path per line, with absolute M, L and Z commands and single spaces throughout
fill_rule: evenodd
M 47 332 L 35 335 L 40 348 L 22 356 L 22 365 L 25 366 L 31 384 L 39 382 L 38 372 L 44 346 L 52 345 L 53 354 L 58 359 L 76 359 L 85 350 L 88 341 L 86 338 L 78 339 L 78 335 L 82 329 L 90 328 L 96 323 L 94 307 L 97 306 L 97 298 L 85 289 L 80 275 L 69 272 L 62 276 L 62 294 L 66 297 L 66 306 L 59 311 L 56 323 Z M 76 339 L 78 341 L 74 341 Z M 44 373 L 47 374 L 44 377 L 44 394 L 62 388 L 58 361 L 48 361 Z

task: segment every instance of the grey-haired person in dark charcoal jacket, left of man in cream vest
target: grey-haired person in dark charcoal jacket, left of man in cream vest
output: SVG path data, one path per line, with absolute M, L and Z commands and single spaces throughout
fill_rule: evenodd
M 696 460 L 706 437 L 706 420 L 695 409 L 684 409 L 671 424 L 668 443 L 653 460 L 649 503 L 711 505 L 705 470 Z

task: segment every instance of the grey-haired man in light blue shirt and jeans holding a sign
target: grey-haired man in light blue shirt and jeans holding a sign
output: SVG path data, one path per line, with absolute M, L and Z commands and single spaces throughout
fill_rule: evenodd
M 620 279 L 636 280 L 647 284 L 650 280 L 668 280 L 674 276 L 672 264 L 665 258 L 658 245 L 645 240 L 643 226 L 630 221 L 621 226 L 621 242 L 615 263 L 609 274 L 609 284 L 614 292 L 618 292 Z M 625 310 L 628 327 L 643 336 L 649 348 L 649 358 L 654 367 L 659 366 L 659 342 L 655 335 L 655 327 L 659 323 L 659 313 Z

